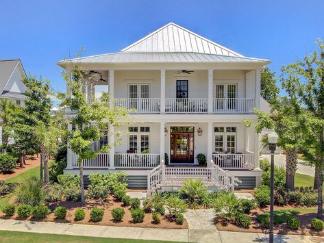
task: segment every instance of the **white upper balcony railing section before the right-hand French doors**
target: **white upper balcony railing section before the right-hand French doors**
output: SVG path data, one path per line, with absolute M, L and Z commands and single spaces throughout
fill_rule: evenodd
M 256 107 L 253 98 L 219 98 L 213 101 L 214 113 L 253 113 Z

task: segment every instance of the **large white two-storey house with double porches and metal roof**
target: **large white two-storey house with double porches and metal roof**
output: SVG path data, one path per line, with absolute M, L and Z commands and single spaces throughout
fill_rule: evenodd
M 128 133 L 109 154 L 84 161 L 85 175 L 123 170 L 130 187 L 151 192 L 177 190 L 187 178 L 202 179 L 211 188 L 233 189 L 235 176 L 242 181 L 240 188 L 257 186 L 262 175 L 258 134 L 242 119 L 256 120 L 260 73 L 269 63 L 174 23 L 119 52 L 58 62 L 68 73 L 78 64 L 99 74 L 101 81 L 89 84 L 86 92 L 89 101 L 109 90 L 115 105 L 136 109 L 134 124 L 109 126 L 108 131 Z M 94 146 L 113 141 L 107 132 Z M 206 168 L 198 166 L 199 153 L 207 157 Z M 76 161 L 68 151 L 64 172 L 77 174 Z

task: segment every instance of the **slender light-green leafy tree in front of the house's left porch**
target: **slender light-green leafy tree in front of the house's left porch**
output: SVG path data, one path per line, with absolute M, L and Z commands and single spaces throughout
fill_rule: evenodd
M 114 127 L 121 125 L 119 121 L 125 120 L 127 110 L 124 107 L 116 107 L 113 103 L 108 103 L 107 94 L 102 97 L 102 101 L 88 103 L 84 90 L 93 79 L 88 77 L 86 71 L 82 71 L 79 66 L 72 67 L 71 77 L 68 73 L 63 73 L 63 75 L 66 83 L 71 87 L 71 94 L 60 94 L 59 98 L 62 100 L 62 107 L 73 111 L 73 115 L 68 118 L 68 121 L 74 129 L 67 132 L 67 140 L 69 149 L 77 155 L 81 200 L 82 203 L 85 203 L 82 161 L 95 158 L 97 153 L 107 153 L 110 147 L 114 146 L 114 144 L 108 144 L 100 150 L 92 149 L 92 143 L 103 136 L 103 129 L 108 124 L 112 124 Z M 120 134 L 116 132 L 115 135 L 119 136 Z

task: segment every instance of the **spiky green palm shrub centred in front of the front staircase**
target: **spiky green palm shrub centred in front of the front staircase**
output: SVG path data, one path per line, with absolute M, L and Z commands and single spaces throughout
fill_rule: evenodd
M 199 204 L 203 196 L 207 194 L 207 188 L 203 185 L 203 181 L 199 179 L 186 179 L 183 186 L 179 189 L 179 193 L 188 199 L 189 204 Z

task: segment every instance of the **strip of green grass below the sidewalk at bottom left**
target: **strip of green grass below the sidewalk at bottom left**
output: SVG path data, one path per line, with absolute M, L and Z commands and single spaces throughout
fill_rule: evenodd
M 88 236 L 75 235 L 54 235 L 49 233 L 29 233 L 17 231 L 0 231 L 1 242 L 107 242 L 107 243 L 154 243 L 162 242 L 155 240 L 129 240 L 129 239 L 114 239 L 114 238 L 99 238 Z M 166 242 L 167 243 L 167 242 Z

